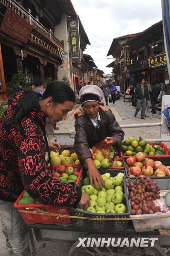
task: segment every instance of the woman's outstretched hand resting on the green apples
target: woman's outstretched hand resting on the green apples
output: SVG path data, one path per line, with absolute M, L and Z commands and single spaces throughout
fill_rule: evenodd
M 98 169 L 95 167 L 92 159 L 87 158 L 85 160 L 85 163 L 88 166 L 90 184 L 93 185 L 93 182 L 94 182 L 96 187 L 98 187 L 98 184 L 100 187 L 104 186 L 104 180 L 102 179 L 100 173 L 98 172 Z

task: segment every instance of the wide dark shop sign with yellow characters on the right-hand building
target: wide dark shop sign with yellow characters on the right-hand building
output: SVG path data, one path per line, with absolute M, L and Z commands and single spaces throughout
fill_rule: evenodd
M 148 68 L 161 67 L 167 65 L 166 53 L 160 53 L 148 58 Z

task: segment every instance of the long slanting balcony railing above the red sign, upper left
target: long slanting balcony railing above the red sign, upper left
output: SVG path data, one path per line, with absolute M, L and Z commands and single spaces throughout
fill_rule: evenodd
M 13 12 L 17 13 L 20 17 L 26 20 L 29 24 L 33 26 L 33 28 L 43 35 L 43 37 L 47 38 L 49 41 L 52 41 L 54 44 L 59 45 L 63 48 L 63 44 L 57 38 L 55 38 L 52 33 L 46 29 L 40 22 L 38 22 L 35 17 L 33 17 L 29 12 L 27 12 L 22 6 L 19 6 L 16 1 L 11 0 L 0 0 L 0 3 L 3 3 L 6 7 L 12 9 Z

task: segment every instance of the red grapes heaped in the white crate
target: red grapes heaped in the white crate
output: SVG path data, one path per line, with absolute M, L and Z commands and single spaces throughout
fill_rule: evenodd
M 165 213 L 159 206 L 156 206 L 153 200 L 160 198 L 160 188 L 156 185 L 156 181 L 150 177 L 140 180 L 130 181 L 126 186 L 129 189 L 130 204 L 133 208 L 132 215 L 153 214 L 155 212 Z

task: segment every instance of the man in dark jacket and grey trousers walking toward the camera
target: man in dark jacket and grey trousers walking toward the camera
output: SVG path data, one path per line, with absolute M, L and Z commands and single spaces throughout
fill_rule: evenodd
M 140 84 L 137 84 L 135 87 L 135 92 L 134 92 L 134 101 L 136 101 L 136 111 L 135 111 L 135 116 L 137 116 L 137 113 L 139 112 L 140 108 L 141 109 L 141 119 L 144 118 L 144 114 L 146 111 L 146 106 L 147 106 L 147 100 L 149 99 L 148 95 L 148 89 L 147 85 L 145 84 L 145 80 L 141 78 Z

